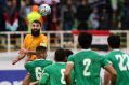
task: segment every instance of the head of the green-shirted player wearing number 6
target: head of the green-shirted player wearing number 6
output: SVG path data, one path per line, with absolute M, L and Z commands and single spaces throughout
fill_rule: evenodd
M 44 47 L 44 46 L 38 46 L 36 48 L 36 55 L 37 55 L 37 58 L 43 58 L 43 59 L 46 59 L 46 57 L 47 57 L 47 47 Z

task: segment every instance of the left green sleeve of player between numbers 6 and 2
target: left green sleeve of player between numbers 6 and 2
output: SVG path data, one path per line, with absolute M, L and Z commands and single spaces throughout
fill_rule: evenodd
M 38 85 L 46 85 L 48 80 L 49 80 L 49 72 L 48 72 L 48 68 L 46 67 L 44 68 L 44 71 L 43 71 L 43 74 L 42 74 L 42 77 L 41 80 L 39 81 L 39 84 Z

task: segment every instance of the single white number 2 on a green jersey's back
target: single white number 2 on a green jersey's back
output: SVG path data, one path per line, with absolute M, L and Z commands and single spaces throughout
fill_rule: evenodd
M 88 72 L 90 63 L 91 63 L 90 59 L 83 59 L 83 66 L 85 66 L 83 76 L 89 76 L 91 74 L 90 72 Z

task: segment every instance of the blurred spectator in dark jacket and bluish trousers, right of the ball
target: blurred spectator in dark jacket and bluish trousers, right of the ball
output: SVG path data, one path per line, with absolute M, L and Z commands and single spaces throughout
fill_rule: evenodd
M 61 18 L 64 30 L 72 30 L 75 23 L 75 13 L 76 8 L 73 5 L 72 0 L 67 0 L 66 5 L 64 5 L 61 10 Z

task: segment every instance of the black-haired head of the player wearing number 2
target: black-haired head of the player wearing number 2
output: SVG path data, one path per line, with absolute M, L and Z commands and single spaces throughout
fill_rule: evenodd
M 81 48 L 89 48 L 92 42 L 92 34 L 87 32 L 80 32 L 78 37 L 78 43 Z

